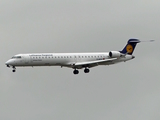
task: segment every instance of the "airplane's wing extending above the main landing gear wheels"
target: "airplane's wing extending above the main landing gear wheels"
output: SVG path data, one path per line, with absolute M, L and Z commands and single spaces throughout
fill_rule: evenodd
M 117 60 L 117 58 L 105 59 L 105 60 L 96 60 L 96 61 L 87 61 L 87 62 L 77 62 L 77 63 L 69 63 L 68 65 L 72 68 L 84 68 L 84 67 L 95 67 L 98 65 L 108 65 L 112 61 Z

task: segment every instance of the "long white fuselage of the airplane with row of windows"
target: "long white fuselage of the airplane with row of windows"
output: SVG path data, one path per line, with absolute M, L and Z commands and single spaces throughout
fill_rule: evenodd
M 110 65 L 118 62 L 128 61 L 133 59 L 132 55 L 125 55 L 117 58 L 114 61 L 99 63 L 98 65 Z M 87 61 L 99 61 L 110 59 L 109 53 L 32 53 L 18 54 L 9 59 L 6 64 L 11 66 L 64 66 L 74 68 L 75 63 Z M 77 67 L 81 69 L 83 67 Z

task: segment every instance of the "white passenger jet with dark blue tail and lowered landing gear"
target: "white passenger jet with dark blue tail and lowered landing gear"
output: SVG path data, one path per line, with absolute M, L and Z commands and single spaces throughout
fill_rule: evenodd
M 153 40 L 152 40 L 153 41 Z M 112 65 L 126 62 L 135 58 L 134 49 L 139 39 L 129 39 L 122 51 L 95 52 L 95 53 L 30 53 L 17 54 L 9 59 L 5 64 L 12 67 L 13 72 L 16 67 L 33 66 L 60 66 L 73 68 L 73 74 L 78 74 L 78 69 L 84 68 L 84 73 L 89 73 L 92 67 L 99 65 Z M 151 42 L 151 41 L 150 41 Z

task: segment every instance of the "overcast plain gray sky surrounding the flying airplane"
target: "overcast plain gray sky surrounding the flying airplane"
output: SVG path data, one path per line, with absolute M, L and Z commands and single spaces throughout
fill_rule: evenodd
M 159 120 L 160 1 L 1 0 L 1 120 Z M 138 44 L 132 61 L 89 74 L 60 67 L 4 63 L 31 52 L 121 50 Z

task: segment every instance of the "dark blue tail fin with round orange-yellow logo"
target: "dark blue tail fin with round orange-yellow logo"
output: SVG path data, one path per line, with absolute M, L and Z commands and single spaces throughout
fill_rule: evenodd
M 125 46 L 125 48 L 120 52 L 123 53 L 123 54 L 132 55 L 137 43 L 139 43 L 139 42 L 140 41 L 138 39 L 129 39 L 127 45 Z

